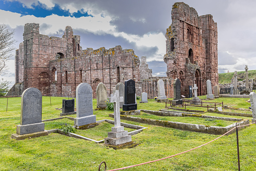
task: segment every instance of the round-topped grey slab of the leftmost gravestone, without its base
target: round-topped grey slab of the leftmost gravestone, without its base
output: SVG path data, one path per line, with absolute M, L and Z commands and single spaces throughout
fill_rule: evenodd
M 42 94 L 36 88 L 28 88 L 21 96 L 21 125 L 40 122 L 42 122 Z

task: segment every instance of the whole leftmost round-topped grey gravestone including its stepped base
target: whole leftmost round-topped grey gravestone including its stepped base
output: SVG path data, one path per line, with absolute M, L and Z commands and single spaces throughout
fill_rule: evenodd
M 37 136 L 48 135 L 48 132 L 44 131 L 42 122 L 42 94 L 36 88 L 28 88 L 22 94 L 21 124 L 17 125 L 16 132 L 17 134 L 13 134 L 12 138 L 20 139 L 21 135 L 37 132 L 40 132 Z

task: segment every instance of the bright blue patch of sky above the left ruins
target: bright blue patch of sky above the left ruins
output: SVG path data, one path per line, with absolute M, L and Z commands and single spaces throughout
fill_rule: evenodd
M 77 11 L 76 13 L 70 14 L 69 11 L 67 10 L 62 10 L 59 5 L 56 5 L 52 9 L 46 9 L 45 5 L 38 2 L 38 5 L 32 5 L 33 9 L 27 8 L 23 6 L 22 3 L 14 1 L 14 2 L 9 2 L 9 1 L 0 1 L 0 10 L 4 11 L 10 11 L 13 13 L 18 13 L 21 14 L 22 16 L 27 16 L 27 15 L 33 15 L 35 17 L 42 17 L 45 18 L 47 16 L 50 16 L 52 14 L 58 15 L 58 16 L 64 16 L 64 17 L 75 17 L 75 18 L 80 18 L 80 17 L 93 17 L 92 15 L 89 15 L 88 12 L 82 11 Z

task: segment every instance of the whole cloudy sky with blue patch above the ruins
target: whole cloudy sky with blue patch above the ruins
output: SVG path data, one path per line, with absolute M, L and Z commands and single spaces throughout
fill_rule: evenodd
M 0 0 L 0 24 L 15 30 L 16 48 L 24 25 L 39 23 L 40 34 L 61 37 L 71 26 L 83 49 L 121 45 L 147 56 L 153 76 L 166 76 L 165 32 L 172 23 L 173 0 Z M 256 69 L 256 1 L 184 0 L 198 15 L 213 15 L 218 25 L 219 73 Z M 15 52 L 14 52 L 15 54 Z M 14 56 L 1 75 L 14 83 Z

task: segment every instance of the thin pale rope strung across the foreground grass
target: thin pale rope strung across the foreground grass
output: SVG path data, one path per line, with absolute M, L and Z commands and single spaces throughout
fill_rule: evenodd
M 247 125 L 251 125 L 251 124 L 254 124 L 254 123 L 256 123 L 256 122 L 253 122 L 253 123 L 250 123 L 250 124 L 247 124 Z M 237 126 L 237 127 L 243 127 L 243 126 L 247 126 L 247 125 L 241 125 L 241 126 Z M 180 155 L 180 154 L 183 154 L 183 153 L 192 151 L 192 150 L 194 150 L 194 149 L 200 148 L 200 147 L 202 147 L 202 146 L 204 146 L 204 145 L 207 145 L 207 144 L 209 144 L 209 143 L 211 143 L 211 142 L 213 142 L 213 141 L 215 141 L 215 140 L 217 140 L 217 139 L 223 137 L 224 135 L 226 135 L 227 133 L 229 133 L 229 132 L 231 132 L 232 130 L 236 129 L 237 127 L 234 127 L 234 128 L 232 128 L 231 130 L 229 130 L 228 132 L 226 132 L 225 134 L 223 134 L 223 135 L 221 135 L 221 136 L 219 136 L 219 137 L 217 137 L 217 138 L 215 138 L 215 139 L 213 139 L 213 140 L 211 140 L 211 141 L 209 141 L 209 142 L 207 142 L 207 143 L 205 143 L 205 144 L 203 144 L 203 145 L 200 145 L 200 146 L 197 146 L 197 147 L 195 147 L 195 148 L 192 148 L 192 149 L 190 149 L 190 150 L 183 151 L 183 152 L 181 152 L 181 153 L 174 154 L 174 155 L 170 155 L 170 156 L 168 156 L 168 157 L 160 158 L 160 159 L 157 159 L 157 160 L 152 160 L 152 161 L 148 161 L 148 162 L 144 162 L 144 163 L 140 163 L 140 164 L 135 164 L 135 165 L 130 165 L 130 166 L 126 166 L 126 167 L 121 167 L 121 168 L 115 168 L 115 169 L 111 169 L 111 170 L 108 170 L 108 171 L 115 171 L 115 170 L 121 170 L 121 169 L 125 169 L 125 168 L 135 167 L 135 166 L 139 166 L 139 165 L 143 165 L 143 164 L 147 164 L 147 163 L 151 163 L 151 162 L 155 162 L 155 161 L 160 161 L 160 160 L 163 160 L 163 159 L 166 159 L 166 158 L 174 157 L 174 156 L 176 156 L 176 155 Z

